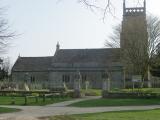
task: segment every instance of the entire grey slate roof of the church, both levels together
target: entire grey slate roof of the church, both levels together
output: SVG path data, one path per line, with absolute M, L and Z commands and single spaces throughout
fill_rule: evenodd
M 111 64 L 114 62 L 120 62 L 119 48 L 59 49 L 54 56 L 19 57 L 12 71 L 48 71 L 54 70 L 57 67 L 98 68 L 105 67 L 104 64 Z

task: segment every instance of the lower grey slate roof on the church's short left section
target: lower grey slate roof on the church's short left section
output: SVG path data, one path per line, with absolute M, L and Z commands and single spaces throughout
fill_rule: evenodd
M 47 71 L 52 57 L 19 57 L 12 71 Z

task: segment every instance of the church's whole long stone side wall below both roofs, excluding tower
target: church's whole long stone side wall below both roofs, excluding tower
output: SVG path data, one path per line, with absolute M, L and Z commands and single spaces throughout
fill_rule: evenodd
M 81 88 L 85 88 L 86 81 L 89 88 L 102 89 L 101 71 L 82 71 Z M 12 81 L 22 85 L 27 83 L 31 89 L 45 88 L 74 88 L 74 81 L 77 72 L 58 71 L 58 72 L 12 72 Z M 111 88 L 123 88 L 123 71 L 112 71 L 110 74 Z

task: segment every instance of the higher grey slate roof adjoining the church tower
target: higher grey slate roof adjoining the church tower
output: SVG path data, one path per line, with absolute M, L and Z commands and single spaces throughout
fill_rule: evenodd
M 60 49 L 56 51 L 53 63 L 85 63 L 98 62 L 105 63 L 119 61 L 119 48 L 104 49 Z

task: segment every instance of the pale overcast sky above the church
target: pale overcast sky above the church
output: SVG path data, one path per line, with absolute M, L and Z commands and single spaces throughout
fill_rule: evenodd
M 1 0 L 5 17 L 19 36 L 8 54 L 14 62 L 21 56 L 54 55 L 56 43 L 62 49 L 102 48 L 112 33 L 112 26 L 122 20 L 122 1 L 116 1 L 113 17 L 105 22 L 100 12 L 91 12 L 78 0 Z M 131 0 L 129 0 L 131 1 Z M 136 0 L 132 0 L 135 2 Z M 160 0 L 147 0 L 147 13 L 160 17 Z

